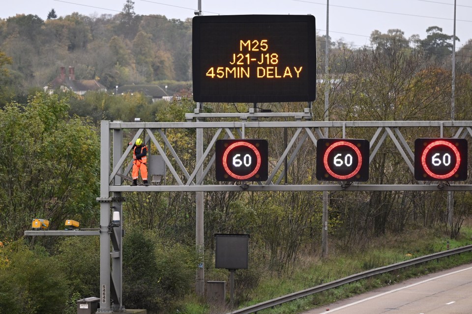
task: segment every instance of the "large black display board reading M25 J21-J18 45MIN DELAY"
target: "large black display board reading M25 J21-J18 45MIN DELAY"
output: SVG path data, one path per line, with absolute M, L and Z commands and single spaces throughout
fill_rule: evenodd
M 196 16 L 192 23 L 195 101 L 315 100 L 314 16 Z

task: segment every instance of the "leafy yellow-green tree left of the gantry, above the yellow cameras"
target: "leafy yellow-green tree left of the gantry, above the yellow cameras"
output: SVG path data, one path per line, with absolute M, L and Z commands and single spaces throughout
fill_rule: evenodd
M 100 145 L 66 99 L 38 93 L 0 111 L 0 238 L 18 238 L 33 218 L 58 229 L 95 218 Z

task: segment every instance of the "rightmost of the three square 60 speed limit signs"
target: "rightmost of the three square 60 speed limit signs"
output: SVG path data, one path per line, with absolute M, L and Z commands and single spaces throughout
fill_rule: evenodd
M 416 139 L 416 180 L 463 181 L 467 179 L 467 140 Z

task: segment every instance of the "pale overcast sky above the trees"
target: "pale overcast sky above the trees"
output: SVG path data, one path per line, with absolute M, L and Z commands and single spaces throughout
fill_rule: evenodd
M 134 0 L 137 14 L 165 15 L 185 20 L 194 16 L 198 0 Z M 46 19 L 54 8 L 58 16 L 72 12 L 84 15 L 117 14 L 125 0 L 0 0 L 0 18 L 16 14 L 36 14 Z M 320 35 L 326 32 L 326 0 L 201 0 L 204 15 L 233 14 L 311 14 L 316 18 Z M 430 26 L 453 34 L 454 0 L 330 0 L 329 35 L 332 40 L 353 44 L 354 48 L 369 45 L 374 29 L 385 33 L 401 29 L 405 37 L 418 34 L 426 37 Z M 456 42 L 459 49 L 472 38 L 472 1 L 457 0 Z

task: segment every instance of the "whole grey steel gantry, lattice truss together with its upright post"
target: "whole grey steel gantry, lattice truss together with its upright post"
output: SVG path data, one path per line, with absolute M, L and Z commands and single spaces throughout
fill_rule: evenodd
M 210 122 L 205 119 L 231 118 L 233 122 Z M 280 121 L 280 119 L 291 121 Z M 370 128 L 375 131 L 370 141 L 370 160 L 372 162 L 387 138 L 394 143 L 412 172 L 414 153 L 402 134 L 403 128 L 432 129 L 430 137 L 442 137 L 444 129 L 454 138 L 472 136 L 472 121 L 313 121 L 311 109 L 302 113 L 255 113 L 244 114 L 203 114 L 196 110 L 186 114 L 187 122 L 121 122 L 101 121 L 100 155 L 100 309 L 98 313 L 124 312 L 122 304 L 122 248 L 121 225 L 111 227 L 111 211 L 118 211 L 122 220 L 123 192 L 215 192 L 215 191 L 472 191 L 472 184 L 442 184 L 442 182 L 416 181 L 414 184 L 286 184 L 282 182 L 284 167 L 290 168 L 304 143 L 316 147 L 317 140 L 324 138 L 324 128 L 342 131 L 342 137 L 350 128 Z M 274 119 L 279 121 L 261 121 Z M 253 128 L 293 129 L 292 138 L 280 156 L 270 154 L 274 163 L 269 167 L 266 181 L 253 184 L 207 184 L 207 175 L 215 162 L 214 144 L 218 139 L 246 138 L 246 130 Z M 203 129 L 211 140 L 203 147 L 203 155 L 186 168 L 177 154 L 177 149 L 166 136 L 169 129 Z M 437 131 L 434 131 L 436 129 Z M 165 167 L 174 180 L 162 180 L 163 184 L 150 186 L 131 186 L 123 184 L 132 168 L 132 146 L 123 143 L 123 132 L 134 134 L 134 143 L 145 137 L 145 143 L 155 147 L 162 157 Z M 331 132 L 333 134 L 334 132 Z M 126 143 L 129 139 L 126 139 Z M 163 143 L 163 145 L 161 145 Z M 178 143 L 177 143 L 178 145 Z M 148 148 L 150 148 L 148 146 Z M 270 150 L 270 142 L 269 142 Z M 149 149 L 151 151 L 151 149 Z M 315 151 L 315 150 L 314 150 Z M 187 152 L 185 152 L 187 153 Z M 149 160 L 149 159 L 148 159 Z M 275 162 L 276 161 L 276 162 Z M 188 164 L 188 163 L 187 163 Z M 188 167 L 188 166 L 187 166 Z M 271 168 L 271 169 L 270 169 Z M 203 170 L 203 171 L 202 171 Z M 201 175 L 199 173 L 202 173 Z M 278 175 L 277 175 L 278 174 Z M 211 180 L 214 182 L 214 180 Z M 172 184 L 167 184 L 172 182 Z M 282 182 L 282 183 L 281 183 Z M 111 262 L 110 262 L 111 261 Z

